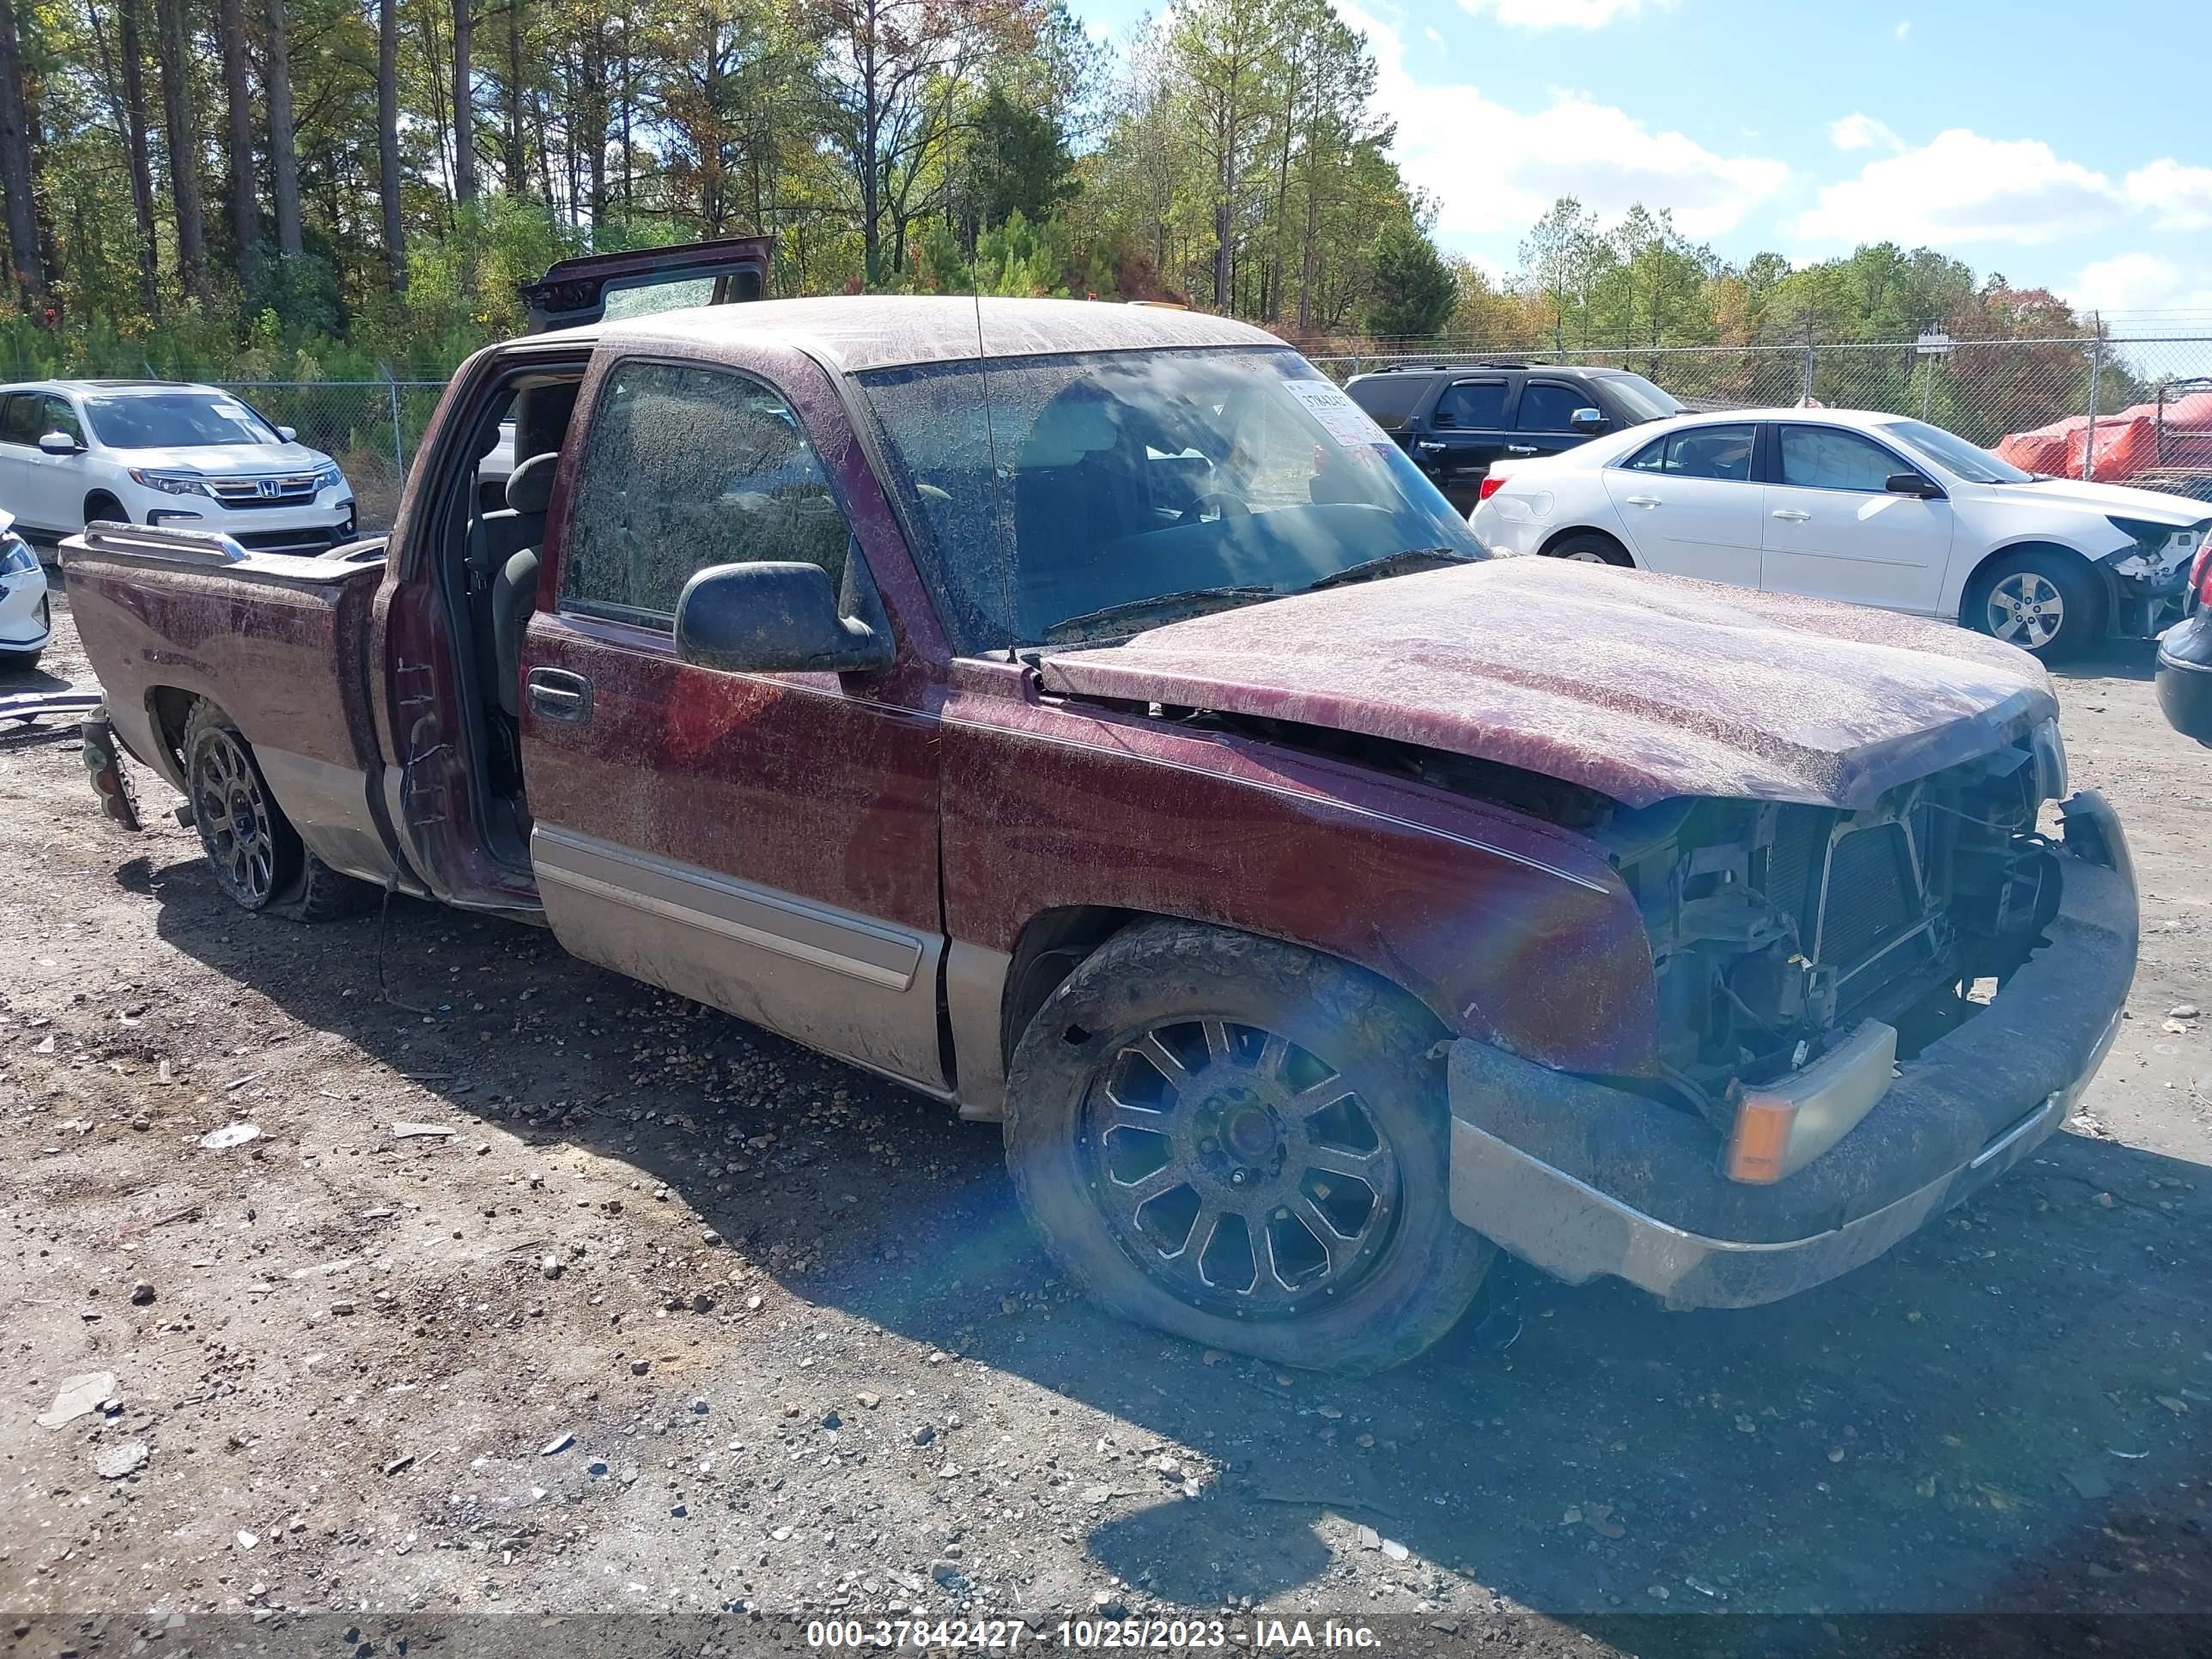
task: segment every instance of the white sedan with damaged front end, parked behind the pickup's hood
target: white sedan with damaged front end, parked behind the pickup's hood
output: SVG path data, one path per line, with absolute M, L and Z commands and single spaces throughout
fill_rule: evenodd
M 1739 409 L 1498 462 L 1469 524 L 1493 553 L 1871 604 L 2064 657 L 2179 617 L 2212 518 L 2024 473 L 1924 420 Z

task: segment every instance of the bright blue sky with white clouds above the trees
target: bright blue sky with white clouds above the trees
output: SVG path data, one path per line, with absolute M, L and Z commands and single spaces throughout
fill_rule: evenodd
M 1139 0 L 1071 0 L 1121 38 Z M 2212 321 L 2197 0 L 1336 0 L 1438 239 L 1509 268 L 1557 195 L 1723 257 L 1927 243 L 2154 330 Z

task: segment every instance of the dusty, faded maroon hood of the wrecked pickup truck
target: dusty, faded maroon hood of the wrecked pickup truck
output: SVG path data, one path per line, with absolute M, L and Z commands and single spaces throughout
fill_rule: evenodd
M 1887 611 L 1559 560 L 1365 582 L 1048 650 L 1046 690 L 1327 726 L 1628 805 L 1867 807 L 2057 712 L 2024 650 Z

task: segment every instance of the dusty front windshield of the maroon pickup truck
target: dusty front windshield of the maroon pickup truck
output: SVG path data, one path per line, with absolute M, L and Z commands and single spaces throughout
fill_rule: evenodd
M 964 653 L 1066 637 L 1102 611 L 1126 635 L 1172 619 L 1166 604 L 1144 617 L 1150 599 L 1267 599 L 1420 549 L 1484 557 L 1383 429 L 1290 349 L 929 363 L 860 383 Z

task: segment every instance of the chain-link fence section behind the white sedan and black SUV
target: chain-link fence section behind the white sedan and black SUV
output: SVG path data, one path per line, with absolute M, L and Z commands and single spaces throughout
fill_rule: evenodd
M 1659 345 L 1588 352 L 1396 349 L 1316 356 L 1336 380 L 1391 365 L 1635 369 L 1692 409 L 1882 409 L 2033 456 L 2033 471 L 2128 478 L 2212 500 L 2212 334 L 2048 341 Z M 2017 434 L 2017 436 L 2015 436 Z M 2028 442 L 2024 436 L 2037 440 Z

